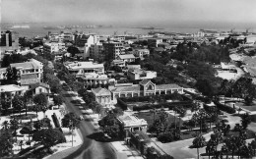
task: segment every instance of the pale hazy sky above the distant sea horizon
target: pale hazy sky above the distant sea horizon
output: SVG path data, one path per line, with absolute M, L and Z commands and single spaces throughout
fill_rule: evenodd
M 256 0 L 2 0 L 1 3 L 2 23 L 256 27 Z

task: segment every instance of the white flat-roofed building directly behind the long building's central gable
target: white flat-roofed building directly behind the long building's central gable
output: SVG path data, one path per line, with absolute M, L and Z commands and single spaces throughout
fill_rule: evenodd
M 128 70 L 127 78 L 131 80 L 143 80 L 157 78 L 157 72 L 145 71 L 142 69 Z

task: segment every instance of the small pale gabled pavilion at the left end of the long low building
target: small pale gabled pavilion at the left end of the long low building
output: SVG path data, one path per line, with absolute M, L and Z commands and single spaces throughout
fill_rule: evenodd
M 92 92 L 96 97 L 96 102 L 101 105 L 109 105 L 111 103 L 111 92 L 106 88 L 92 88 Z

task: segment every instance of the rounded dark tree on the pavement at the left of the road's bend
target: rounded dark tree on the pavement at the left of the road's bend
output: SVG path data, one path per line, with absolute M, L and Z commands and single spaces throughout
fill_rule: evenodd
M 61 120 L 61 123 L 62 123 L 62 127 L 73 130 L 79 126 L 80 120 L 75 115 L 75 113 L 70 112 L 64 116 L 64 118 Z

